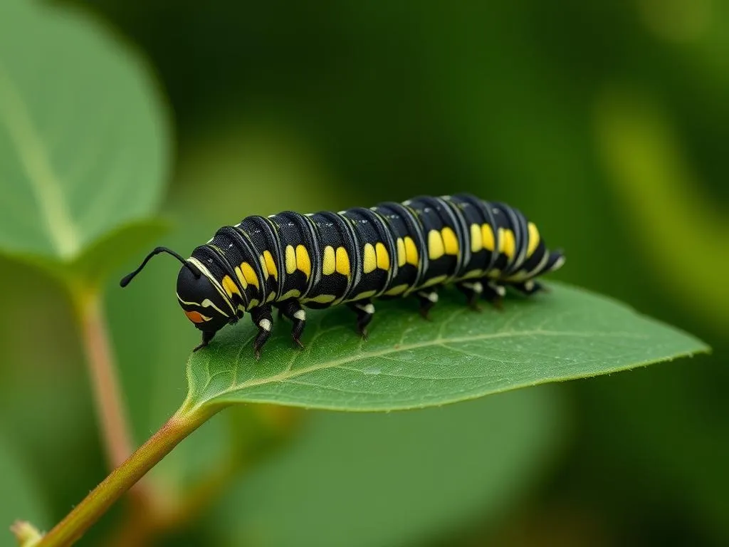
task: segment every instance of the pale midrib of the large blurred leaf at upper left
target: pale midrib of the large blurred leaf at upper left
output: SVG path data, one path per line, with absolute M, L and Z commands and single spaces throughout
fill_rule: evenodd
M 0 122 L 7 127 L 26 171 L 48 238 L 59 256 L 78 254 L 80 238 L 64 198 L 61 180 L 53 171 L 26 102 L 0 61 Z

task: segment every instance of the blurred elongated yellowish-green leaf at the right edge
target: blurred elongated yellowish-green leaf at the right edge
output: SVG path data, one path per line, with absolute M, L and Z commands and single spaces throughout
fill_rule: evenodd
M 635 234 L 629 243 L 652 258 L 656 284 L 697 317 L 708 315 L 708 324 L 723 334 L 729 327 L 729 253 L 717 252 L 717 241 L 728 241 L 729 221 L 702 195 L 701 178 L 673 125 L 660 101 L 630 88 L 608 88 L 596 108 L 606 180 Z M 682 260 L 676 249 L 683 249 Z

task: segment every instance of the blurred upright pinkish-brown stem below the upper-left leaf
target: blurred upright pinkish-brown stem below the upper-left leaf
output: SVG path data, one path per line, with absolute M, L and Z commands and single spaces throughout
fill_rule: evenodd
M 122 401 L 106 317 L 98 290 L 72 292 L 81 323 L 82 340 L 93 386 L 96 414 L 109 468 L 114 469 L 132 452 L 129 422 Z

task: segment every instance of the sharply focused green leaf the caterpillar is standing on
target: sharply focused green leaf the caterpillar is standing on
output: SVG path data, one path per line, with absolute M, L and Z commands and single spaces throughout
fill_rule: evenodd
M 691 335 L 614 300 L 554 285 L 503 312 L 444 292 L 424 321 L 412 303 L 378 303 L 369 341 L 347 309 L 308 315 L 297 351 L 278 322 L 260 361 L 254 329 L 228 327 L 188 362 L 188 407 L 268 402 L 346 411 L 442 405 L 549 381 L 597 376 L 706 352 Z

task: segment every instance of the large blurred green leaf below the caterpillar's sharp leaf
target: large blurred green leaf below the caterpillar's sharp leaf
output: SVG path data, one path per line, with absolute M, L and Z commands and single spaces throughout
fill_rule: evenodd
M 567 430 L 560 395 L 545 386 L 418 412 L 308 413 L 285 452 L 214 506 L 211 543 L 436 545 L 474 521 L 494 526 L 550 471 Z

